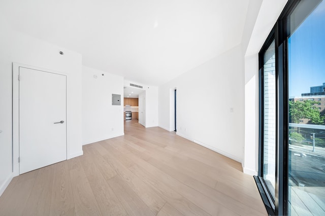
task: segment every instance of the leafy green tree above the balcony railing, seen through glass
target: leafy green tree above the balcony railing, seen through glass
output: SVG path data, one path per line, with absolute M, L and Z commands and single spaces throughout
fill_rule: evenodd
M 324 124 L 324 116 L 320 115 L 317 101 L 304 100 L 304 101 L 289 101 L 289 116 L 292 123 L 299 123 L 300 119 L 309 119 L 311 123 L 322 125 Z

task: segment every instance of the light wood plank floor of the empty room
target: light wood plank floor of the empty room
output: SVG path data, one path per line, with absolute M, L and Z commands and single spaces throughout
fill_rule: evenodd
M 240 163 L 174 132 L 127 121 L 83 151 L 13 178 L 0 215 L 267 215 Z

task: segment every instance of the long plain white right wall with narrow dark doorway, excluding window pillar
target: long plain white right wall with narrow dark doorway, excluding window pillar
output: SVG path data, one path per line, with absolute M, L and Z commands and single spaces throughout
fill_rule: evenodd
M 244 68 L 241 46 L 159 86 L 159 127 L 173 130 L 177 88 L 177 134 L 242 161 Z

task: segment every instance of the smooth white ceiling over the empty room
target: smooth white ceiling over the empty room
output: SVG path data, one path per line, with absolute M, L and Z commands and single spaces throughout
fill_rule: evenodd
M 241 43 L 249 0 L 1 0 L 13 28 L 161 85 Z

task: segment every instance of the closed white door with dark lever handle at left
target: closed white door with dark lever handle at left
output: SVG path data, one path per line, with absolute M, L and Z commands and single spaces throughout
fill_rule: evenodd
M 19 67 L 19 173 L 67 160 L 67 77 Z

